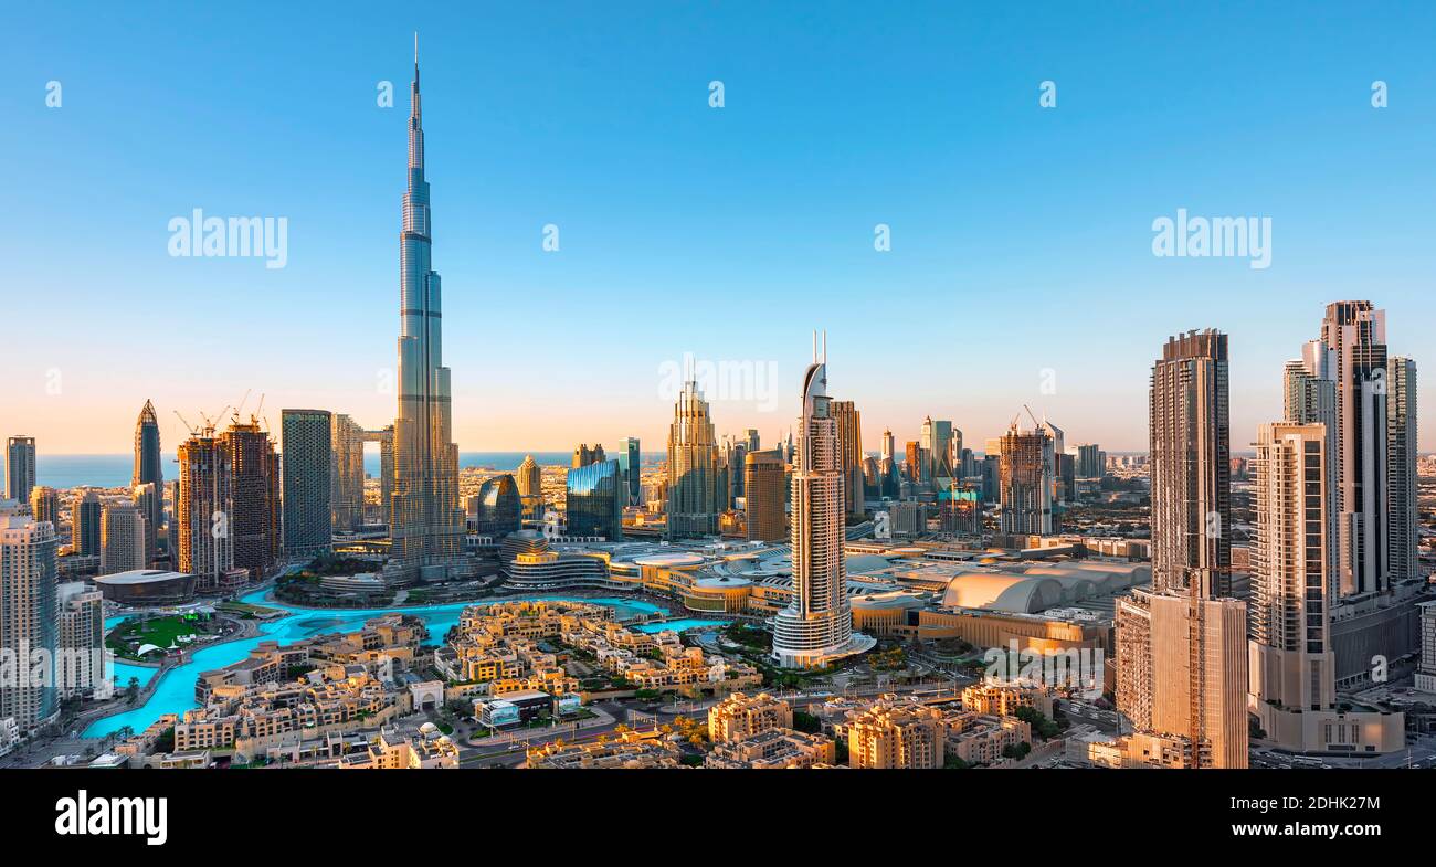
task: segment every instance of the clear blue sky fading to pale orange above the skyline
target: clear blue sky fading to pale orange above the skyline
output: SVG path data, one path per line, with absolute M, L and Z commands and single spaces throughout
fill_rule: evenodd
M 1436 380 L 1430 4 L 454 6 L 11 9 L 3 434 L 121 452 L 154 398 L 168 451 L 172 411 L 246 389 L 276 426 L 391 419 L 415 29 L 465 451 L 662 448 L 685 352 L 777 366 L 777 409 L 715 406 L 771 439 L 813 327 L 869 448 L 928 413 L 981 448 L 1024 402 L 1068 442 L 1146 448 L 1152 359 L 1205 326 L 1231 333 L 1245 448 L 1346 297 Z M 287 267 L 171 258 L 197 207 L 287 217 Z M 1153 257 L 1178 208 L 1271 217 L 1271 267 Z

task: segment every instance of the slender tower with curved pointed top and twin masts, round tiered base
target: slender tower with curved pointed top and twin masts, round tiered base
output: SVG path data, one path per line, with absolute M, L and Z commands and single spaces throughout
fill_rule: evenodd
M 821 667 L 876 643 L 853 632 L 843 564 L 844 479 L 830 403 L 827 365 L 814 359 L 803 378 L 793 465 L 793 601 L 773 619 L 773 656 L 787 667 Z

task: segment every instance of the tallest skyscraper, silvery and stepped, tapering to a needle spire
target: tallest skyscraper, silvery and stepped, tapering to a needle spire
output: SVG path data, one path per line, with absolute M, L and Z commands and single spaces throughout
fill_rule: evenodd
M 409 109 L 409 188 L 399 257 L 399 415 L 393 421 L 391 560 L 405 576 L 442 577 L 464 551 L 449 370 L 442 365 L 439 276 L 429 267 L 418 43 Z

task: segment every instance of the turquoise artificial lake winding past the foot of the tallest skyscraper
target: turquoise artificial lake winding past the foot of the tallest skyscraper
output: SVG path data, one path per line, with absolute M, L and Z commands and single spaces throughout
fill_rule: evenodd
M 514 596 L 493 600 L 478 600 L 478 601 L 457 601 L 449 604 L 438 606 L 412 606 L 412 607 L 393 607 L 393 609 L 302 609 L 296 606 L 289 606 L 281 601 L 270 601 L 264 599 L 269 590 L 256 590 L 247 596 L 240 597 L 240 601 L 264 606 L 269 609 L 279 609 L 289 611 L 286 617 L 276 617 L 273 620 L 260 622 L 260 634 L 253 639 L 244 639 L 241 642 L 230 642 L 225 645 L 215 645 L 214 647 L 205 647 L 197 650 L 194 656 L 190 657 L 182 666 L 169 669 L 161 676 L 159 683 L 155 690 L 149 695 L 149 699 L 123 713 L 116 713 L 113 716 L 106 716 L 103 719 L 96 719 L 85 729 L 85 738 L 103 738 L 105 735 L 113 734 L 123 726 L 129 726 L 134 732 L 142 732 L 152 722 L 164 716 L 165 713 L 184 713 L 198 705 L 194 700 L 194 682 L 202 673 L 213 669 L 220 669 L 227 665 L 236 663 L 250 655 L 250 650 L 258 647 L 260 642 L 279 642 L 281 645 L 297 642 L 300 639 L 307 639 L 310 636 L 325 633 L 325 632 L 355 632 L 363 627 L 365 620 L 370 617 L 378 617 L 381 614 L 412 614 L 424 620 L 429 630 L 429 645 L 444 643 L 444 634 L 448 633 L 451 627 L 458 623 L 460 613 L 475 604 L 490 604 L 494 601 L 520 601 L 520 600 L 536 600 L 536 599 L 551 599 L 556 601 L 589 601 L 596 604 L 609 606 L 615 610 L 617 617 L 629 619 L 636 616 L 651 616 L 651 614 L 666 614 L 668 611 L 646 601 L 630 600 L 630 599 L 577 599 L 566 596 Z M 109 617 L 105 620 L 105 629 L 112 629 L 125 617 Z M 663 629 L 673 629 L 682 632 L 685 629 L 696 629 L 701 626 L 717 626 L 721 620 L 669 620 L 665 623 L 645 623 L 638 626 L 643 632 L 659 632 Z M 149 678 L 154 676 L 155 669 L 145 666 L 135 666 L 116 660 L 115 675 L 119 678 L 119 688 L 123 689 L 129 683 L 129 678 L 139 678 L 141 685 L 148 683 Z

